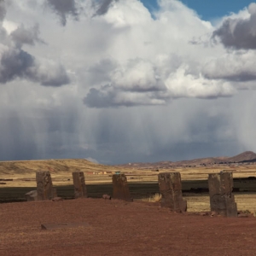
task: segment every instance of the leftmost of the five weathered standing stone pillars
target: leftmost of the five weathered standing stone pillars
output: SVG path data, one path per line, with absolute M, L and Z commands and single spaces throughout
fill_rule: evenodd
M 37 172 L 38 201 L 50 200 L 56 196 L 56 190 L 52 186 L 49 172 Z

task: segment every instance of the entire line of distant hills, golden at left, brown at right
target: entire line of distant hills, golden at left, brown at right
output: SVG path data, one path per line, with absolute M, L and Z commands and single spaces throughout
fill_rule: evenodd
M 256 154 L 247 151 L 233 157 L 208 157 L 195 160 L 183 161 L 161 161 L 156 163 L 129 163 L 118 166 L 104 166 L 84 159 L 63 159 L 63 160 L 21 160 L 21 161 L 0 161 L 0 175 L 25 174 L 37 171 L 58 172 L 117 172 L 125 169 L 171 169 L 176 166 L 202 166 L 221 163 L 246 163 L 256 162 Z

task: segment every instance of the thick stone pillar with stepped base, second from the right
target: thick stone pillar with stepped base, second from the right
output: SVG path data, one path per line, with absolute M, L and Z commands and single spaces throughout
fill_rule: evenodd
M 163 172 L 158 175 L 161 207 L 171 208 L 172 211 L 186 212 L 187 201 L 183 200 L 182 183 L 179 172 Z

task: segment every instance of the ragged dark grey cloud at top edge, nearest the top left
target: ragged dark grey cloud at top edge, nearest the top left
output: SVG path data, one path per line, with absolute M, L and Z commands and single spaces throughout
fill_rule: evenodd
M 79 10 L 75 0 L 47 0 L 47 3 L 60 16 L 62 26 L 66 26 L 69 15 L 75 20 L 79 19 Z

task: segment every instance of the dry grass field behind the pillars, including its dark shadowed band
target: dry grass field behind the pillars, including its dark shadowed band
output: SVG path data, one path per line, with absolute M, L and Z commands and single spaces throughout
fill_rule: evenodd
M 160 172 L 180 172 L 183 189 L 207 188 L 209 173 L 220 171 L 233 172 L 237 177 L 256 177 L 256 165 L 234 164 L 160 169 L 120 168 L 118 166 L 103 166 L 88 160 L 34 160 L 0 162 L 0 199 L 1 201 L 24 201 L 24 194 L 35 189 L 35 173 L 49 171 L 58 195 L 73 198 L 72 172 L 84 172 L 87 190 L 90 197 L 101 197 L 102 194 L 112 193 L 112 175 L 115 172 L 125 172 L 131 188 L 131 195 L 135 200 L 147 200 L 159 192 L 157 178 Z M 236 182 L 235 182 L 236 184 Z M 256 182 L 239 183 L 249 192 L 236 193 L 236 202 L 241 211 L 256 211 Z M 189 212 L 209 211 L 209 197 L 207 193 L 183 193 L 188 201 Z

